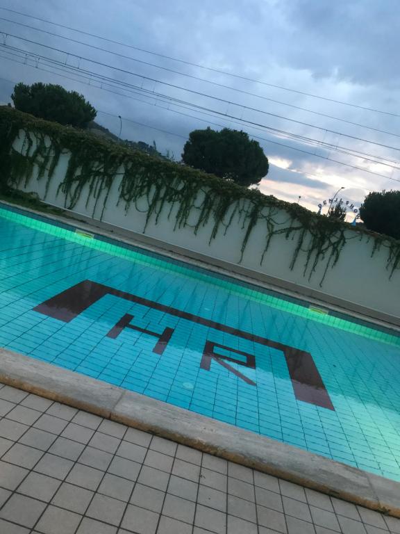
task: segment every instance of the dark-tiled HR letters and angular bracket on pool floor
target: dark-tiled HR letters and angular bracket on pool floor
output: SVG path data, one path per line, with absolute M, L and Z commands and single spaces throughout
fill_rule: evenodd
M 83 282 L 66 289 L 62 293 L 58 293 L 58 295 L 49 298 L 49 300 L 45 300 L 40 305 L 36 306 L 34 310 L 35 312 L 40 312 L 41 314 L 45 314 L 68 323 L 76 316 L 84 312 L 85 309 L 88 309 L 88 307 L 93 305 L 94 302 L 97 302 L 97 300 L 106 295 L 113 295 L 130 302 L 136 302 L 151 309 L 157 309 L 160 312 L 164 312 L 175 317 L 180 317 L 208 328 L 219 330 L 219 332 L 226 332 L 227 334 L 232 334 L 233 336 L 247 339 L 249 341 L 253 341 L 254 343 L 260 343 L 260 345 L 267 346 L 269 348 L 281 350 L 285 356 L 290 379 L 292 380 L 294 395 L 296 396 L 297 400 L 316 406 L 321 406 L 327 408 L 328 410 L 335 410 L 328 391 L 326 391 L 326 387 L 321 375 L 319 374 L 317 366 L 315 365 L 313 356 L 306 352 L 306 350 L 300 350 L 298 348 L 285 345 L 284 343 L 273 341 L 267 337 L 261 337 L 256 334 L 251 334 L 250 332 L 244 332 L 243 330 L 238 330 L 237 328 L 224 325 L 222 323 L 210 321 L 210 319 L 190 314 L 188 312 L 183 312 L 181 309 L 172 308 L 163 305 L 160 302 L 154 302 L 153 300 L 148 300 L 147 298 L 142 298 L 137 295 L 133 295 L 132 293 L 126 293 L 126 291 L 119 291 L 113 287 L 99 284 L 98 282 L 92 282 L 92 280 L 84 280 Z M 151 330 L 145 330 L 144 328 L 140 328 L 131 324 L 132 321 L 132 315 L 124 315 L 110 330 L 110 332 L 108 332 L 108 337 L 118 337 L 124 328 L 131 328 L 132 330 L 137 330 L 138 332 L 144 332 L 150 336 L 158 338 L 158 341 L 153 348 L 153 352 L 162 355 L 172 337 L 172 334 L 174 333 L 174 330 L 172 328 L 165 328 L 161 334 L 157 334 Z M 244 357 L 245 361 L 239 358 L 228 357 L 215 353 L 215 347 L 222 348 L 223 350 L 228 350 L 229 353 L 235 353 L 238 356 L 242 356 Z M 240 371 L 227 363 L 232 362 L 250 369 L 256 369 L 256 360 L 253 355 L 243 353 L 242 351 L 228 348 L 226 346 L 219 345 L 218 343 L 214 343 L 213 341 L 207 340 L 206 346 L 203 350 L 203 356 L 201 358 L 201 369 L 209 371 L 211 362 L 213 360 L 224 366 L 225 369 L 228 369 L 228 371 L 231 373 L 235 373 L 238 378 L 244 380 L 244 382 L 247 382 L 247 384 L 256 386 L 255 382 L 247 378 L 245 375 L 240 373 Z

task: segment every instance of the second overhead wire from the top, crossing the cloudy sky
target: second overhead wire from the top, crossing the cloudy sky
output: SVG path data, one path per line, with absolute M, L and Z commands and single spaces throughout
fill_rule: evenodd
M 379 129 L 379 128 L 375 128 L 375 127 L 369 126 L 367 124 L 360 124 L 359 122 L 353 122 L 351 120 L 343 119 L 343 118 L 340 118 L 340 117 L 335 117 L 334 115 L 328 115 L 327 113 L 322 113 L 321 111 L 315 111 L 315 110 L 310 109 L 310 108 L 304 108 L 302 106 L 296 106 L 294 104 L 290 104 L 289 102 L 282 102 L 281 100 L 276 100 L 276 99 L 273 99 L 273 98 L 265 97 L 264 95 L 258 95 L 257 93 L 254 93 L 254 92 L 245 91 L 245 90 L 238 89 L 238 88 L 235 88 L 235 87 L 227 86 L 224 83 L 218 83 L 217 81 L 201 78 L 200 76 L 194 76 L 193 74 L 188 74 L 186 72 L 181 72 L 181 71 L 178 71 L 178 70 L 169 69 L 168 67 L 164 67 L 163 65 L 156 65 L 155 63 L 149 63 L 149 61 L 144 61 L 144 60 L 141 60 L 141 59 L 138 59 L 138 58 L 133 58 L 132 56 L 126 56 L 125 54 L 119 54 L 119 52 L 115 52 L 113 50 L 109 50 L 109 49 L 102 48 L 102 47 L 97 47 L 94 44 L 89 44 L 87 42 L 83 42 L 83 41 L 80 41 L 80 40 L 72 39 L 70 37 L 66 37 L 65 35 L 60 35 L 60 33 L 54 33 L 52 31 L 47 31 L 47 30 L 44 30 L 42 28 L 36 28 L 35 26 L 32 26 L 31 24 L 24 24 L 22 22 L 17 22 L 15 20 L 6 19 L 5 17 L 0 17 L 0 20 L 3 20 L 5 22 L 10 22 L 12 24 L 17 24 L 18 26 L 22 26 L 24 28 L 33 29 L 35 31 L 39 31 L 39 32 L 45 33 L 47 35 L 51 35 L 52 37 L 64 39 L 64 40 L 67 40 L 69 42 L 74 42 L 75 44 L 80 44 L 80 45 L 82 45 L 84 47 L 89 47 L 89 48 L 92 48 L 92 49 L 97 50 L 97 51 L 105 52 L 106 54 L 112 54 L 113 56 L 117 56 L 119 58 L 124 58 L 124 59 L 128 59 L 128 60 L 131 60 L 131 61 L 135 61 L 135 63 L 140 63 L 142 65 L 147 65 L 149 67 L 154 67 L 156 69 L 164 70 L 166 72 L 172 72 L 173 74 L 178 74 L 179 76 L 185 76 L 186 78 L 189 78 L 189 79 L 194 79 L 194 80 L 197 80 L 197 81 L 201 81 L 203 83 L 208 83 L 208 84 L 216 86 L 216 87 L 220 87 L 220 88 L 228 89 L 228 90 L 231 90 L 231 91 L 234 91 L 234 92 L 238 92 L 238 93 L 240 93 L 242 95 L 256 97 L 256 98 L 259 98 L 259 99 L 263 99 L 263 100 L 265 100 L 267 102 L 274 102 L 274 104 L 279 104 L 281 106 L 288 106 L 290 108 L 297 109 L 299 111 L 306 111 L 306 113 L 313 113 L 313 115 L 318 115 L 319 117 L 325 117 L 325 118 L 332 119 L 332 120 L 338 120 L 338 121 L 344 122 L 346 124 L 351 124 L 352 126 L 369 129 L 369 130 L 372 130 L 372 131 L 376 131 L 378 133 L 385 133 L 388 136 L 400 137 L 399 133 L 394 133 L 392 131 L 382 130 L 382 129 Z

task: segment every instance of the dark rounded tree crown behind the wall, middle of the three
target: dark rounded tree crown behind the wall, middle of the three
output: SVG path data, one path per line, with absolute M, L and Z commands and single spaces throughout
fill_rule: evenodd
M 268 159 L 258 142 L 244 131 L 228 128 L 192 131 L 182 161 L 241 186 L 258 184 L 268 172 Z

